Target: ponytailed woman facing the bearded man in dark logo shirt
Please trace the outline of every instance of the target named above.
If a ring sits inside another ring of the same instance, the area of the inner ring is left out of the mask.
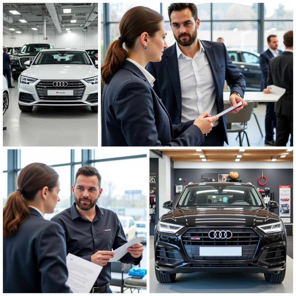
[[[59,201],[57,173],[32,163],[20,171],[17,186],[3,208],[3,292],[71,293],[64,231],[43,217]]]

